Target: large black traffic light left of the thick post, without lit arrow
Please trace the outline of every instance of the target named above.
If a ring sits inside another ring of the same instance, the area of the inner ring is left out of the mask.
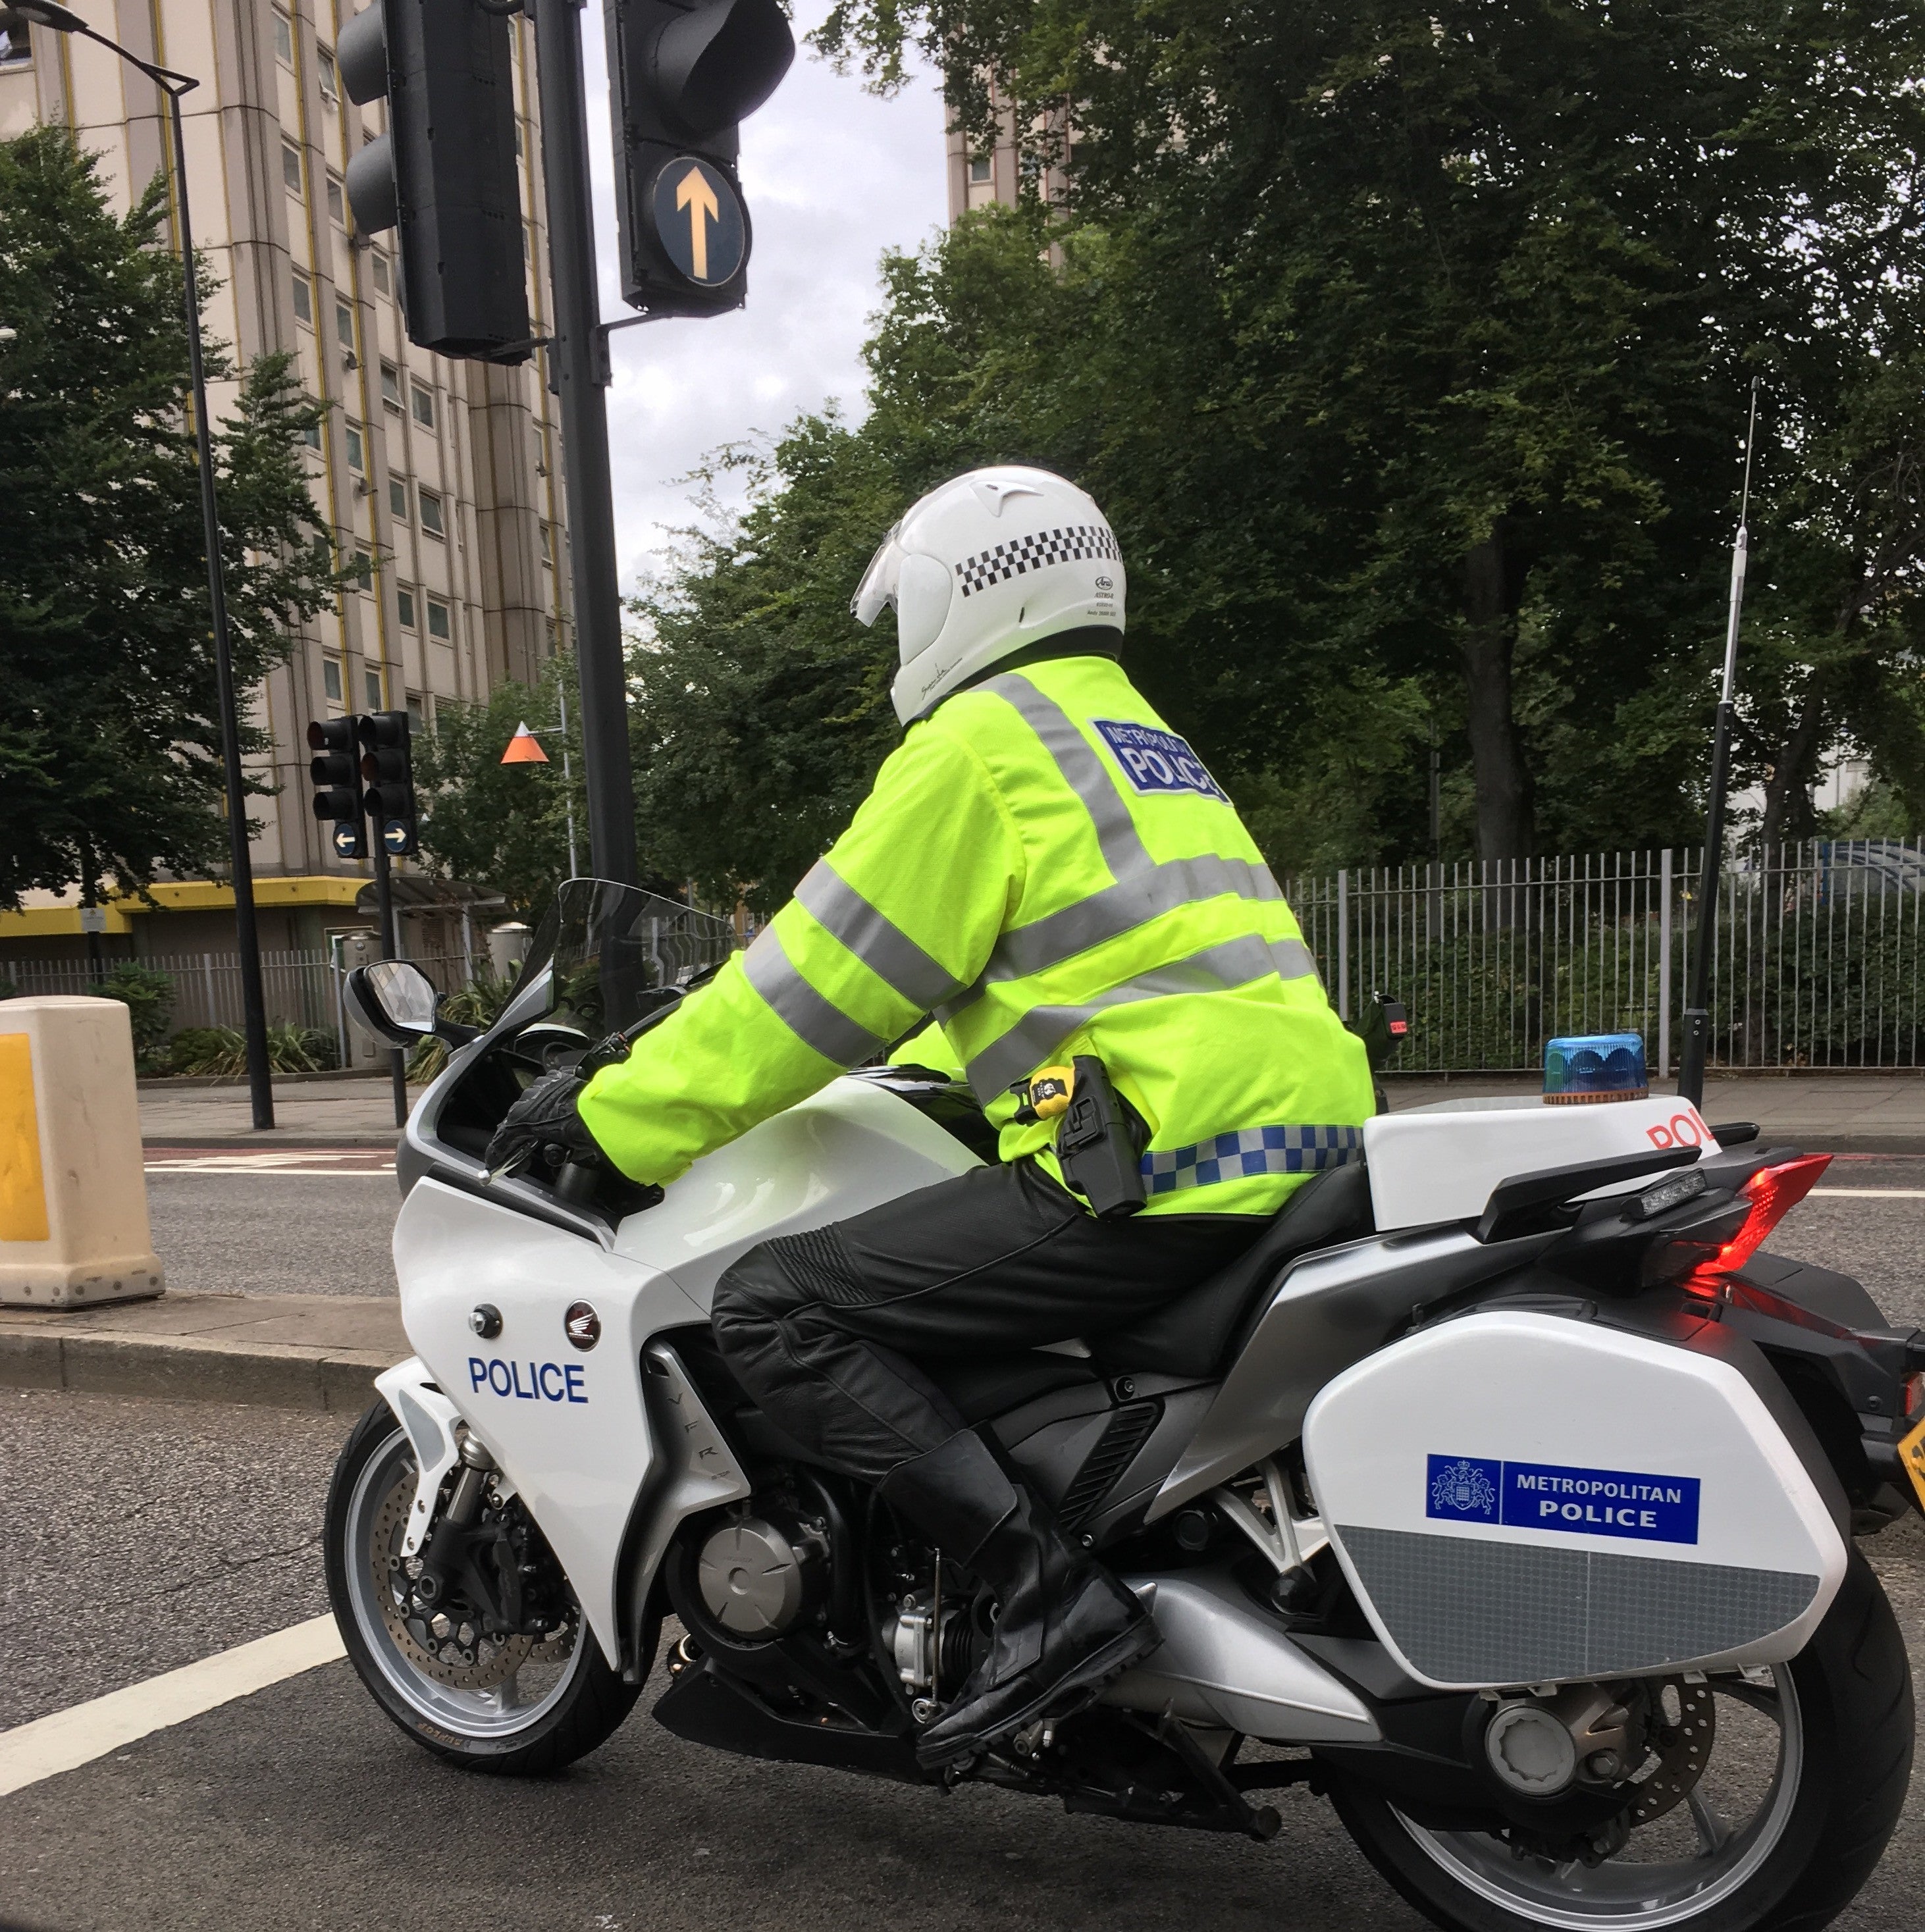
[[[363,234],[400,230],[408,340],[526,361],[506,15],[479,0],[375,0],[340,29],[334,60],[350,100],[388,102],[388,131],[348,162],[348,205]]]

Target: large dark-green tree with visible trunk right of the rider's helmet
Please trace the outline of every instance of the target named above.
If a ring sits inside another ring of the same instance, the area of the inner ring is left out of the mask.
[[[995,79],[1073,201],[1032,332],[970,350],[951,253],[879,340],[945,330],[959,413],[1111,508],[1216,755],[1274,744],[1287,794],[1281,713],[1428,713],[1463,734],[1486,858],[1683,833],[1753,373],[1761,564],[1786,545],[1745,775],[1796,790],[1890,711],[1911,444],[1865,410],[1892,373],[1917,392],[1925,14],[841,0],[818,44],[889,85],[912,37],[978,137]],[[1374,833],[1409,850],[1392,792]]]

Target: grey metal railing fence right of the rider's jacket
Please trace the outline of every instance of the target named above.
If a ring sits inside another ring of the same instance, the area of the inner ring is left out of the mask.
[[[1399,1072],[1531,1072],[1556,1034],[1676,1066],[1697,925],[1689,848],[1361,867],[1283,881],[1337,1010],[1409,1009]],[[1925,1066],[1925,844],[1811,840],[1720,881],[1710,1065]]]

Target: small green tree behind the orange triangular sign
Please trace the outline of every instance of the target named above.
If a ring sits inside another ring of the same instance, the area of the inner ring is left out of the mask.
[[[437,871],[504,893],[518,918],[539,920],[568,877],[568,800],[562,740],[553,724],[560,694],[574,692],[574,663],[553,657],[533,690],[499,684],[485,703],[435,707],[435,730],[414,740],[416,792],[421,800],[421,850]],[[582,798],[578,707],[568,705],[568,750],[576,773],[578,858],[588,864]],[[518,724],[541,738],[545,765],[503,765]]]

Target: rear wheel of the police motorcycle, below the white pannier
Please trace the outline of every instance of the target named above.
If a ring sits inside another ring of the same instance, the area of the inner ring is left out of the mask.
[[[1668,1685],[1676,1729],[1710,1745],[1683,1797],[1635,1787],[1610,1857],[1552,1859],[1484,1832],[1436,1832],[1349,1774],[1332,1797],[1365,1857],[1448,1932],[1817,1932],[1884,1851],[1911,1777],[1911,1671],[1853,1549],[1788,1663]],[[1687,1716],[1689,1712],[1689,1716]],[[1649,1820],[1649,1822],[1647,1822]]]

